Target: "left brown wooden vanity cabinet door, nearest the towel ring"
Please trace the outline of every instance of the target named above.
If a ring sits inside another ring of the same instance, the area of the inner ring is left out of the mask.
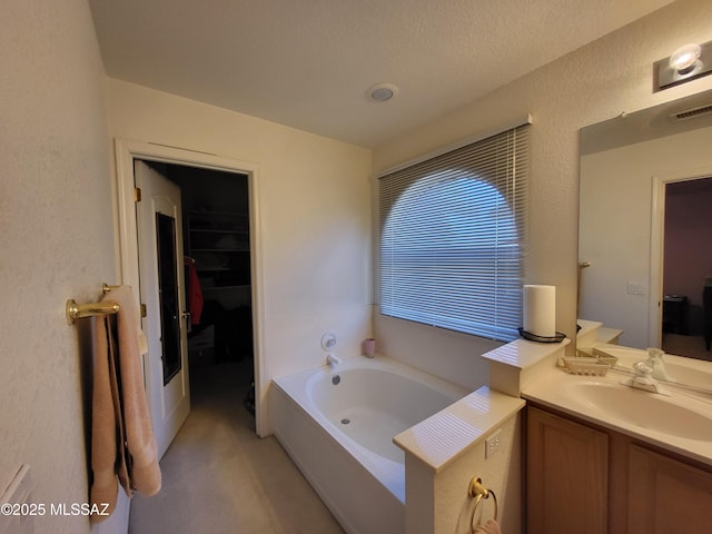
[[[530,406],[527,439],[527,533],[605,534],[607,435]]]

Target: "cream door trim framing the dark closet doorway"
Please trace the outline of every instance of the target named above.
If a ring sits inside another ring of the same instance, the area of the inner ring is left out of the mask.
[[[130,285],[136,301],[139,299],[138,225],[136,220],[134,159],[198,167],[210,170],[237,172],[248,176],[249,191],[249,245],[250,291],[253,309],[253,337],[255,360],[255,429],[258,436],[267,435],[267,417],[264,403],[263,377],[266,373],[264,350],[264,283],[259,217],[258,166],[222,156],[196,150],[169,147],[152,142],[115,139],[116,180],[118,201],[119,271],[121,283]]]

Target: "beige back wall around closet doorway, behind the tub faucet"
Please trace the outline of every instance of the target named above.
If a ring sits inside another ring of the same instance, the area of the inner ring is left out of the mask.
[[[370,333],[369,150],[115,79],[107,106],[111,138],[257,167],[265,406],[271,377],[325,363],[324,333],[337,355],[359,354]]]

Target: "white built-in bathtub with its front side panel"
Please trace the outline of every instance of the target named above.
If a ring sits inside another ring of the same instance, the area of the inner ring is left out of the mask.
[[[393,437],[467,392],[379,356],[274,383],[275,434],[342,526],[404,532],[404,454]]]

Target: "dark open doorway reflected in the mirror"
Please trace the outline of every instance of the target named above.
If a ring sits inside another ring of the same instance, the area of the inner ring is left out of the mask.
[[[665,184],[662,348],[712,359],[712,177]]]

